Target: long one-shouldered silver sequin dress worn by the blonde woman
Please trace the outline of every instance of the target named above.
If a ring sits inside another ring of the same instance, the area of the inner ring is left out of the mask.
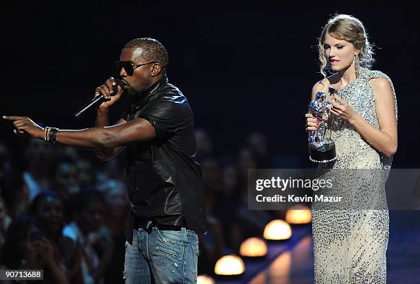
[[[375,97],[369,84],[373,78],[386,78],[390,83],[397,116],[393,83],[380,71],[362,69],[358,78],[342,88],[338,96],[379,129]],[[312,206],[315,283],[386,283],[389,215],[385,182],[392,157],[375,150],[348,121],[331,115],[327,122],[326,136],[330,135],[336,143],[337,160],[320,164],[319,168],[345,173],[338,184],[346,197],[351,196],[351,205],[346,210]],[[360,178],[360,172],[367,177]]]

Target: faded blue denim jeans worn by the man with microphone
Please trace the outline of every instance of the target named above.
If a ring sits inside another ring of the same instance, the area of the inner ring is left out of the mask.
[[[197,283],[198,237],[192,230],[133,230],[126,241],[124,280],[127,284]]]

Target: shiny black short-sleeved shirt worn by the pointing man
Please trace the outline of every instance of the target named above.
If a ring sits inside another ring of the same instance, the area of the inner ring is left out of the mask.
[[[204,233],[204,189],[196,161],[194,116],[187,98],[165,77],[133,99],[121,114],[126,121],[139,117],[150,121],[157,138],[126,145],[133,213],[159,224],[186,225]]]

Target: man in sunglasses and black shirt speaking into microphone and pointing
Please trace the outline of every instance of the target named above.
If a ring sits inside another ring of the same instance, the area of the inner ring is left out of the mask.
[[[84,130],[40,128],[28,117],[14,132],[95,149],[106,161],[126,147],[128,197],[132,214],[126,241],[126,283],[194,283],[198,237],[205,231],[204,193],[196,162],[194,117],[185,96],[169,84],[165,47],[152,38],[130,40],[117,61],[124,89],[110,78],[95,95],[107,99],[97,109],[96,127]],[[108,111],[122,93],[132,97],[115,126]]]

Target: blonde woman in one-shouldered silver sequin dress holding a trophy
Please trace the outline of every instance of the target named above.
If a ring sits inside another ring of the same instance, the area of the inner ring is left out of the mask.
[[[325,76],[329,65],[334,74],[314,85],[312,99],[329,87],[338,91],[328,96],[331,115],[323,118],[337,159],[320,168],[341,173],[336,188],[351,196],[351,207],[312,208],[315,283],[386,283],[385,182],[397,151],[397,102],[390,78],[369,70],[372,54],[358,19],[338,14],[325,25],[319,39],[320,70]],[[307,130],[316,130],[319,121],[309,113],[305,117]]]

